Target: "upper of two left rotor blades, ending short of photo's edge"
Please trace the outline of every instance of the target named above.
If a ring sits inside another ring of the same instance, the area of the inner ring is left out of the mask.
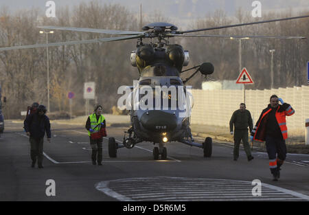
[[[104,29],[95,29],[95,28],[84,28],[84,27],[38,26],[38,28],[49,29],[49,30],[66,30],[66,31],[73,31],[73,32],[100,33],[100,34],[118,34],[118,35],[144,34],[144,32],[130,32],[130,31],[120,31],[120,30],[104,30]]]

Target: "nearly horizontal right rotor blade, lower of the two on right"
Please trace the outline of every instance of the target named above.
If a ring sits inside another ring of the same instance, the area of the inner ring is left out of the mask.
[[[183,36],[183,37],[222,37],[222,38],[278,38],[278,39],[304,39],[304,36],[262,36],[262,35],[194,35],[194,34],[166,34],[166,36]]]

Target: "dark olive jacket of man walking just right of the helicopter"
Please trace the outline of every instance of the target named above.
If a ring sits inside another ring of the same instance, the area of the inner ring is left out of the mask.
[[[252,131],[253,122],[250,111],[244,109],[244,111],[240,111],[239,109],[234,111],[231,116],[231,120],[229,120],[229,131],[233,131],[233,125],[235,125],[235,130],[247,130],[249,127],[249,131]]]

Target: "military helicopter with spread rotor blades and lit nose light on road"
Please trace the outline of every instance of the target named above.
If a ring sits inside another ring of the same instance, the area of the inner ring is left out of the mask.
[[[235,35],[197,35],[187,34],[193,32],[218,30],[228,27],[238,27],[244,25],[255,25],[260,23],[271,23],[275,21],[286,21],[292,19],[308,18],[307,16],[296,16],[284,19],[272,19],[268,21],[257,21],[252,23],[240,23],[236,25],[225,25],[218,27],[208,27],[197,30],[178,31],[178,28],[171,23],[150,23],[142,27],[144,32],[122,31],[122,30],[102,30],[81,27],[57,27],[57,26],[41,26],[41,29],[48,30],[69,30],[76,32],[92,32],[103,34],[120,35],[112,38],[95,38],[93,40],[84,41],[68,41],[62,43],[49,43],[37,45],[23,45],[15,47],[1,47],[0,51],[12,49],[26,49],[37,47],[53,47],[59,45],[74,45],[82,43],[99,43],[110,41],[122,41],[129,39],[137,39],[137,49],[130,54],[130,61],[133,67],[139,70],[139,80],[135,86],[128,87],[130,93],[127,97],[130,107],[144,103],[146,109],[130,110],[130,128],[124,134],[122,144],[117,144],[114,137],[108,139],[108,155],[117,157],[119,148],[133,148],[135,144],[140,142],[152,142],[159,144],[159,148],[153,149],[154,159],[167,158],[167,150],[165,143],[181,142],[190,146],[203,148],[204,157],[211,157],[212,139],[206,137],[205,142],[200,144],[194,142],[190,130],[190,109],[192,108],[192,100],[188,100],[188,92],[185,83],[190,80],[196,73],[201,72],[207,76],[214,72],[214,66],[211,63],[202,63],[196,67],[182,70],[184,66],[189,64],[189,52],[184,50],[181,45],[170,44],[169,38],[175,36],[185,37],[221,37],[221,38],[284,38],[284,39],[303,39],[303,36],[235,36]],[[143,39],[150,38],[151,43],[144,44]],[[156,38],[154,43],[152,39]],[[183,80],[180,74],[185,71],[196,69],[189,78]],[[144,87],[152,89],[147,91],[144,96],[140,96],[138,91],[142,91]],[[165,87],[167,91],[158,88]],[[172,93],[174,89],[174,93]],[[176,93],[175,93],[176,92]],[[175,96],[172,96],[175,94]],[[150,96],[152,95],[152,97]],[[155,99],[153,99],[155,95]],[[159,95],[159,100],[157,100]],[[148,97],[150,96],[150,97]],[[157,97],[156,97],[157,96]],[[146,98],[146,99],[145,99]],[[153,99],[153,100],[152,100]],[[165,106],[162,105],[165,100]],[[183,102],[179,102],[182,100]],[[166,102],[167,101],[167,102]],[[174,103],[173,103],[174,102]],[[175,103],[176,102],[176,103]],[[151,103],[151,104],[150,104]],[[174,106],[172,105],[174,104]],[[189,114],[187,114],[189,112]]]

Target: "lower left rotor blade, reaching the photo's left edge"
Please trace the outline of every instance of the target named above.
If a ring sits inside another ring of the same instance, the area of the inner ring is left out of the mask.
[[[85,40],[85,41],[68,41],[68,42],[60,42],[60,43],[48,43],[48,44],[34,44],[34,45],[20,45],[20,46],[12,46],[12,47],[1,47],[1,51],[8,51],[14,49],[32,49],[32,48],[40,48],[40,47],[54,47],[60,45],[76,45],[76,44],[86,44],[86,43],[104,43],[111,41],[123,41],[133,38],[141,38],[144,34],[134,35],[134,36],[119,36],[119,37],[111,37],[111,38],[97,38],[93,40]]]

